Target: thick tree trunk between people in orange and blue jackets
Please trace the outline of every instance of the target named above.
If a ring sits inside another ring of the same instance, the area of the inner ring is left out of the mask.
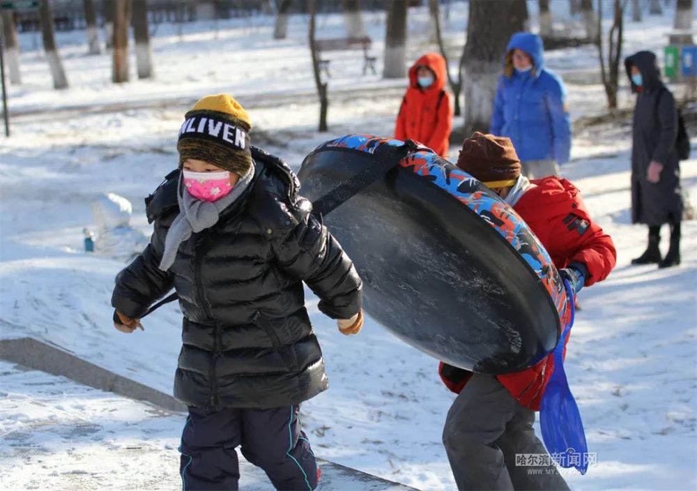
[[[502,70],[501,55],[511,35],[525,25],[523,2],[470,0],[464,56],[466,135],[489,130],[496,79]]]

